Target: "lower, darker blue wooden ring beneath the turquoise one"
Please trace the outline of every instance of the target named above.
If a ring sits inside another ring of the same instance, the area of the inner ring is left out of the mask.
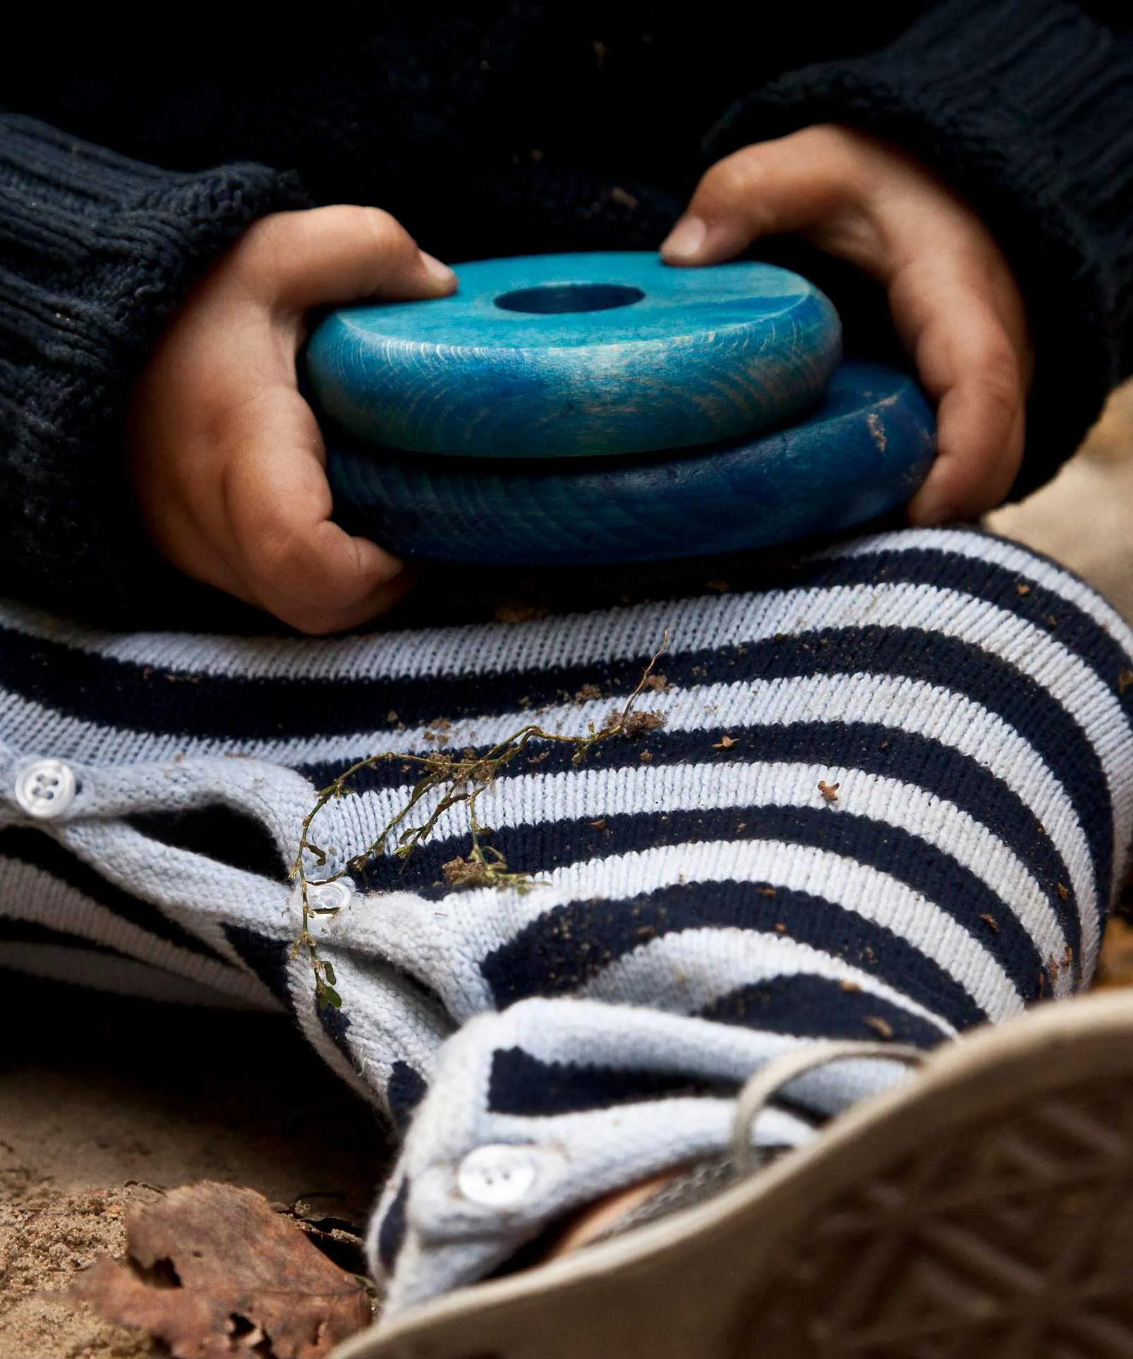
[[[928,476],[933,413],[911,378],[845,363],[807,420],[676,454],[477,463],[328,439],[340,520],[399,556],[492,564],[740,552],[865,523]]]

